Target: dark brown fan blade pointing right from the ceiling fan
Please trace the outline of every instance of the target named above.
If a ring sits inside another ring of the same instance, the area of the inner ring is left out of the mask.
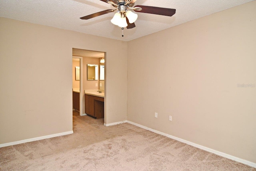
[[[141,11],[136,11],[135,12],[143,12],[143,13],[148,13],[148,14],[158,14],[162,16],[173,16],[176,12],[175,9],[172,8],[160,8],[160,7],[154,7],[154,6],[143,6],[143,5],[136,5],[134,8],[140,7],[142,8]]]

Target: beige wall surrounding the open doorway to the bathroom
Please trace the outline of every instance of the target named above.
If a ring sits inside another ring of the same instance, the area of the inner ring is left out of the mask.
[[[72,48],[106,52],[105,123],[127,119],[127,42],[6,18],[0,25],[0,144],[72,131]]]

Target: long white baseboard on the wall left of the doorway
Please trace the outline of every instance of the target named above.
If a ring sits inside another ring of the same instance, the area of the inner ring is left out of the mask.
[[[42,137],[24,139],[24,140],[20,140],[20,141],[14,141],[14,142],[10,142],[10,143],[0,144],[0,147],[7,147],[7,146],[10,146],[10,145],[28,143],[28,142],[31,142],[31,141],[38,141],[38,140],[41,140],[41,139],[58,137],[58,136],[62,136],[62,135],[68,135],[68,134],[71,134],[71,133],[74,133],[74,132],[73,131],[68,131],[68,132],[56,133],[56,134],[52,134],[52,135],[46,135],[46,136],[42,136]]]

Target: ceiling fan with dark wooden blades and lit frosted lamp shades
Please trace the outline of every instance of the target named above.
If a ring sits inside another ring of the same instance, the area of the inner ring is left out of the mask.
[[[143,5],[134,6],[134,3],[136,2],[136,0],[101,0],[101,1],[111,4],[116,9],[114,10],[109,9],[101,12],[96,12],[94,14],[81,17],[80,19],[88,20],[90,18],[94,18],[97,16],[101,16],[103,14],[108,14],[110,12],[114,12],[118,10],[114,15],[114,17],[112,18],[111,22],[121,27],[122,30],[124,30],[124,27],[126,27],[127,29],[134,28],[135,27],[134,22],[138,18],[138,15],[133,13],[130,10],[134,10],[135,12],[148,13],[148,14],[158,14],[162,16],[173,16],[176,12],[175,9],[171,9],[171,8],[159,8],[154,6],[143,6]]]

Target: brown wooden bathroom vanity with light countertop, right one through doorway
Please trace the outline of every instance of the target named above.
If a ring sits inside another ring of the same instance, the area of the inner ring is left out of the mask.
[[[104,93],[84,93],[85,113],[95,119],[104,118]]]

